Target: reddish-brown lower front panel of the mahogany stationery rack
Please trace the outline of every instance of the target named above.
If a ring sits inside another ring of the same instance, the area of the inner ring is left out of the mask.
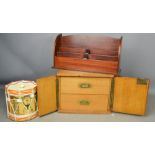
[[[88,71],[94,73],[118,74],[117,61],[83,60],[70,57],[55,56],[55,68],[77,71]]]

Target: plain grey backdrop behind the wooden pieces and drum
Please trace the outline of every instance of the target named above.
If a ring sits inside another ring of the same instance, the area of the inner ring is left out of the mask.
[[[50,75],[57,34],[0,34],[0,83]],[[155,92],[155,34],[100,34],[123,36],[121,75],[151,80]]]

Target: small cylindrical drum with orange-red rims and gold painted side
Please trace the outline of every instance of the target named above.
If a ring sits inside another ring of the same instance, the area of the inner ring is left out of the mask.
[[[8,118],[26,121],[38,116],[34,81],[16,81],[5,86]]]

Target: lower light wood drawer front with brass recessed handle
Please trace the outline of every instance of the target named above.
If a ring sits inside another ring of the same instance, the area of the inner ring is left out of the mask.
[[[59,111],[73,113],[109,112],[109,95],[69,95],[61,94]]]

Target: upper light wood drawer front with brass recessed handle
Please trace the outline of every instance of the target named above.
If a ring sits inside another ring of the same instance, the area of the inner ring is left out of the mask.
[[[60,93],[110,94],[111,78],[61,77]]]

